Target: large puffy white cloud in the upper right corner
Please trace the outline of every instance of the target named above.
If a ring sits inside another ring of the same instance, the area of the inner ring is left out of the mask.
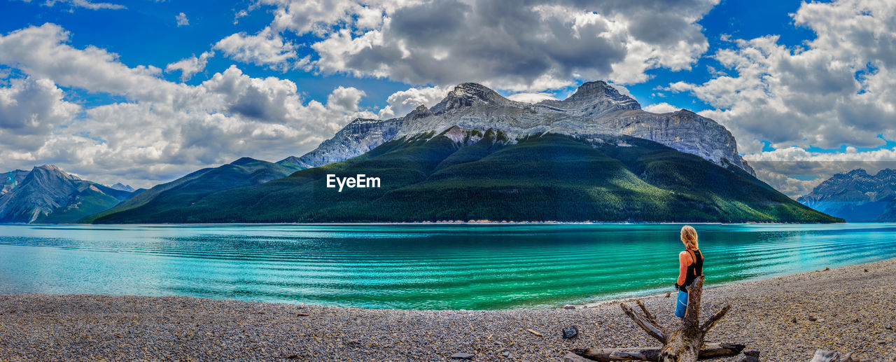
[[[759,141],[833,149],[896,139],[896,3],[804,3],[793,19],[815,39],[795,47],[777,36],[737,39],[713,56],[733,75],[668,90],[708,103],[714,109],[702,116],[726,125],[745,151],[761,150]]]

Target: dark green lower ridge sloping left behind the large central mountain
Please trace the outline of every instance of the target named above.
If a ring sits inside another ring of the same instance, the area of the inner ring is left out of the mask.
[[[162,220],[166,211],[188,207],[203,197],[235,187],[258,185],[289,176],[299,167],[244,157],[218,168],[202,168],[166,184],[155,185],[115,207],[90,215],[82,222],[137,222]],[[138,190],[139,191],[139,190]]]

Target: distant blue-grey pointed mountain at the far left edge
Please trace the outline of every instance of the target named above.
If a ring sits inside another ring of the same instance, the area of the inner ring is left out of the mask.
[[[129,194],[45,165],[6,174],[0,222],[75,222],[106,210]]]

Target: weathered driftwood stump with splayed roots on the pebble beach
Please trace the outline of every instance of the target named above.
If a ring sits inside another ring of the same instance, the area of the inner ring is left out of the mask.
[[[576,349],[576,355],[596,361],[642,360],[660,362],[696,362],[699,358],[734,356],[744,349],[739,344],[703,345],[707,332],[719,322],[731,306],[725,306],[719,313],[700,323],[700,297],[703,292],[703,277],[699,277],[687,289],[687,310],[681,325],[676,329],[663,326],[650,314],[641,301],[635,301],[640,311],[625,303],[620,304],[625,315],[632,318],[644,332],[663,344],[659,349]]]

